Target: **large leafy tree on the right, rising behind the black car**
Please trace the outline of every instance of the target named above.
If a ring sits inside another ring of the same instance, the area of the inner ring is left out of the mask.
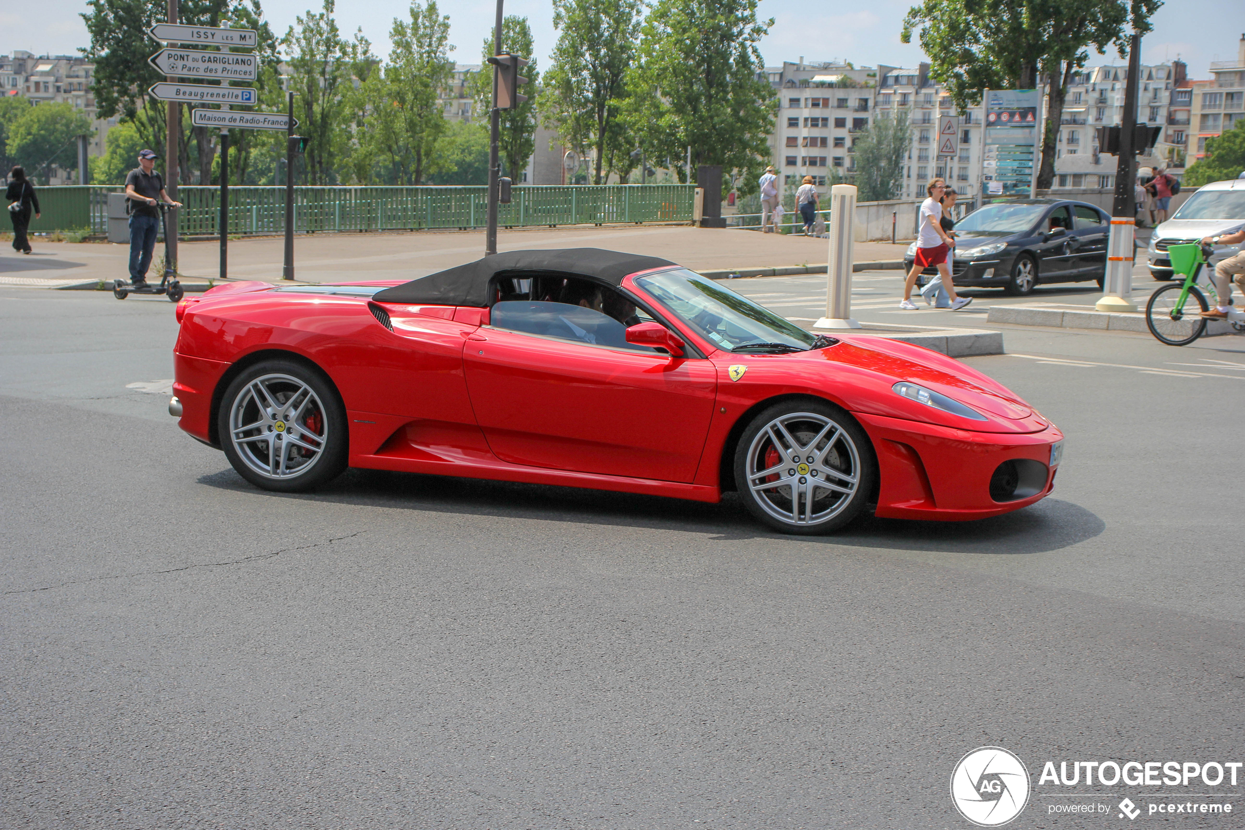
[[[924,0],[909,9],[900,40],[920,29],[930,75],[964,112],[985,90],[1031,90],[1047,83],[1047,119],[1037,187],[1055,179],[1063,101],[1074,70],[1111,44],[1127,49],[1129,31],[1150,31],[1163,0]]]

